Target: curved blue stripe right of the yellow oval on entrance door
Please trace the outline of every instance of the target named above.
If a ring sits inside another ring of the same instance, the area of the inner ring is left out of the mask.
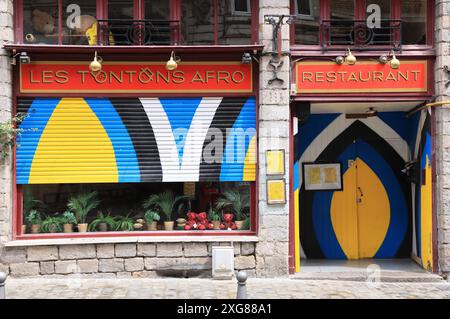
[[[358,157],[377,175],[389,198],[390,222],[383,243],[375,258],[392,258],[402,245],[408,228],[408,206],[401,191],[401,185],[394,171],[372,146],[362,140],[357,141]]]

